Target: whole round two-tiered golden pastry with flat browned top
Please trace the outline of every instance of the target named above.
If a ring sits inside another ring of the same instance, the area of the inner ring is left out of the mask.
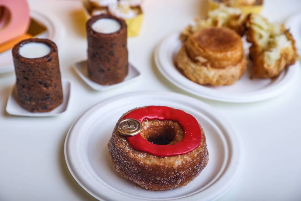
[[[243,43],[226,27],[206,27],[189,36],[176,56],[178,69],[201,85],[230,85],[246,69]]]

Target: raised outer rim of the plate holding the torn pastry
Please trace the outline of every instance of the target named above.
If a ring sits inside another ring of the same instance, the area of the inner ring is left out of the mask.
[[[282,80],[275,85],[269,87],[269,88],[264,88],[260,89],[257,91],[251,91],[251,92],[242,92],[239,93],[240,95],[237,96],[237,94],[231,94],[231,93],[225,93],[225,92],[220,92],[220,91],[214,91],[214,89],[207,88],[206,86],[200,85],[200,89],[205,89],[208,91],[211,91],[211,94],[200,92],[200,91],[195,91],[190,89],[187,86],[182,85],[182,83],[179,83],[174,79],[172,76],[170,76],[168,73],[166,73],[166,68],[161,64],[160,62],[160,56],[159,52],[160,49],[162,48],[164,42],[170,40],[171,38],[179,38],[180,33],[179,32],[173,32],[172,34],[169,34],[165,36],[156,46],[154,50],[154,61],[155,64],[160,71],[160,73],[163,75],[164,78],[166,78],[169,82],[177,86],[178,88],[190,93],[197,95],[198,97],[206,98],[206,99],[211,99],[215,101],[221,101],[221,102],[228,102],[228,103],[251,103],[251,102],[257,102],[257,101],[262,101],[266,99],[270,99],[273,97],[276,97],[283,92],[286,91],[287,88],[291,86],[291,84],[295,81],[297,74],[299,73],[299,67],[300,63],[297,60],[295,64],[293,64],[290,68],[286,69],[286,75]],[[173,65],[174,66],[174,65]],[[294,67],[293,67],[294,66]],[[192,82],[188,78],[186,78],[184,75],[182,75],[185,79],[187,79],[187,82]],[[195,82],[192,82],[192,84],[197,84]],[[282,84],[282,85],[281,85]],[[279,87],[279,85],[281,87]],[[278,89],[277,89],[278,87]],[[218,93],[216,93],[218,92]],[[214,95],[213,95],[214,94]],[[220,95],[222,94],[222,95]]]

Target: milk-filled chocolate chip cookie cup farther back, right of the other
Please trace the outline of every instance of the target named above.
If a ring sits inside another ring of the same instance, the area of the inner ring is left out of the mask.
[[[101,85],[122,82],[128,73],[127,25],[123,19],[101,14],[86,23],[88,75]]]

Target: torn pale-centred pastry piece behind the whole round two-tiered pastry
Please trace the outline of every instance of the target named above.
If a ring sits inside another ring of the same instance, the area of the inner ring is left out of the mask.
[[[209,11],[208,18],[196,19],[192,25],[187,26],[182,32],[182,39],[185,41],[190,34],[208,26],[228,27],[243,35],[245,19],[246,15],[239,8],[227,7],[221,4],[217,9]]]

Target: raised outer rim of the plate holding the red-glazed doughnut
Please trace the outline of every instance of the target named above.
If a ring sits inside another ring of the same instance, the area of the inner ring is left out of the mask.
[[[95,110],[95,108],[99,108],[99,107],[104,107],[106,104],[110,103],[112,101],[112,99],[119,99],[119,98],[122,98],[122,97],[125,97],[125,96],[133,96],[133,95],[139,95],[139,96],[144,96],[144,95],[152,95],[152,96],[156,96],[156,95],[159,95],[159,96],[174,96],[174,98],[185,98],[187,100],[187,98],[191,99],[191,100],[194,100],[196,103],[199,103],[202,105],[202,109],[208,113],[206,114],[206,117],[211,119],[215,119],[217,120],[217,122],[221,125],[218,125],[218,123],[214,122],[215,125],[217,127],[219,127],[219,129],[223,128],[224,130],[227,131],[227,136],[223,135],[223,137],[225,137],[225,139],[227,141],[231,141],[231,142],[227,142],[227,147],[229,149],[229,146],[231,146],[231,151],[229,152],[229,157],[228,157],[228,160],[227,160],[227,164],[225,166],[225,169],[223,169],[223,174],[225,174],[224,172],[228,172],[229,174],[229,166],[234,166],[234,167],[231,167],[232,169],[234,168],[234,171],[233,172],[233,175],[231,175],[231,178],[229,179],[228,178],[228,181],[222,185],[222,188],[220,188],[220,192],[216,193],[214,190],[214,194],[216,194],[215,196],[212,196],[211,194],[209,194],[210,196],[207,196],[207,199],[205,200],[216,200],[216,199],[219,199],[222,195],[224,195],[233,185],[234,183],[236,182],[236,180],[238,179],[239,175],[240,175],[240,172],[241,172],[241,168],[244,164],[244,145],[243,145],[243,142],[242,142],[242,139],[240,137],[240,135],[238,135],[238,132],[236,131],[235,127],[233,127],[233,124],[231,122],[229,122],[220,112],[218,112],[217,110],[215,110],[213,107],[209,106],[208,104],[196,99],[196,98],[192,98],[192,97],[189,97],[189,96],[186,96],[186,95],[183,95],[183,94],[178,94],[178,93],[174,93],[174,92],[164,92],[164,94],[162,94],[162,92],[160,91],[136,91],[136,92],[130,92],[130,93],[125,93],[125,94],[119,94],[119,95],[115,95],[113,97],[110,97],[110,98],[107,98],[107,99],[104,99],[103,101],[95,104],[94,106],[92,106],[91,108],[89,108],[87,111],[85,111],[82,115],[80,115],[76,121],[74,123],[72,123],[71,127],[69,128],[68,130],[68,133],[66,135],[66,138],[65,138],[65,143],[64,143],[64,156],[65,156],[65,162],[66,162],[66,165],[68,167],[68,170],[70,171],[71,175],[73,176],[73,178],[76,180],[76,182],[85,190],[87,191],[90,195],[92,195],[93,197],[95,197],[96,199],[99,199],[99,200],[107,200],[106,197],[108,195],[103,195],[100,197],[98,195],[96,195],[92,190],[88,189],[88,187],[86,187],[84,185],[84,182],[80,181],[80,179],[77,177],[77,172],[76,170],[73,169],[72,166],[74,166],[74,164],[72,164],[71,161],[69,161],[70,159],[68,159],[69,155],[71,155],[68,151],[68,146],[69,146],[69,141],[70,141],[70,135],[72,135],[72,130],[74,128],[74,126],[76,125],[76,123],[78,123],[80,121],[81,118],[84,118],[85,116],[87,116],[86,118],[89,117],[89,115],[93,114],[93,111]],[[211,113],[214,113],[215,115],[212,115]],[[209,116],[207,116],[209,115]],[[230,132],[231,131],[231,132]],[[233,151],[233,146],[235,146],[235,149],[237,149],[236,151]],[[235,163],[238,162],[238,163]],[[235,164],[234,164],[235,163]],[[231,171],[231,170],[230,170]],[[215,183],[217,182],[220,182],[220,178],[223,176],[223,174],[216,180],[214,181],[210,186],[208,186],[206,189],[204,189],[204,191],[208,190],[208,189],[212,189],[211,186],[213,185],[216,185]],[[93,176],[93,175],[92,175]],[[105,188],[108,188],[110,191],[113,191],[113,189],[105,186],[104,184],[101,184],[103,187]],[[114,191],[116,192],[116,191]],[[202,192],[202,191],[201,191]],[[200,194],[201,192],[197,192],[197,193],[194,193],[193,195],[190,195],[189,197],[183,197],[183,198],[176,198],[176,199],[173,199],[173,198],[170,198],[170,199],[165,199],[165,200],[191,200],[193,198],[197,198],[197,195]],[[118,193],[118,192],[116,192]],[[122,196],[125,196],[127,199],[129,198],[127,195],[123,195],[123,194],[120,194],[119,193],[119,197],[122,197]],[[135,197],[130,197],[132,200],[139,200]],[[161,199],[143,199],[145,201],[147,200],[161,200]]]

